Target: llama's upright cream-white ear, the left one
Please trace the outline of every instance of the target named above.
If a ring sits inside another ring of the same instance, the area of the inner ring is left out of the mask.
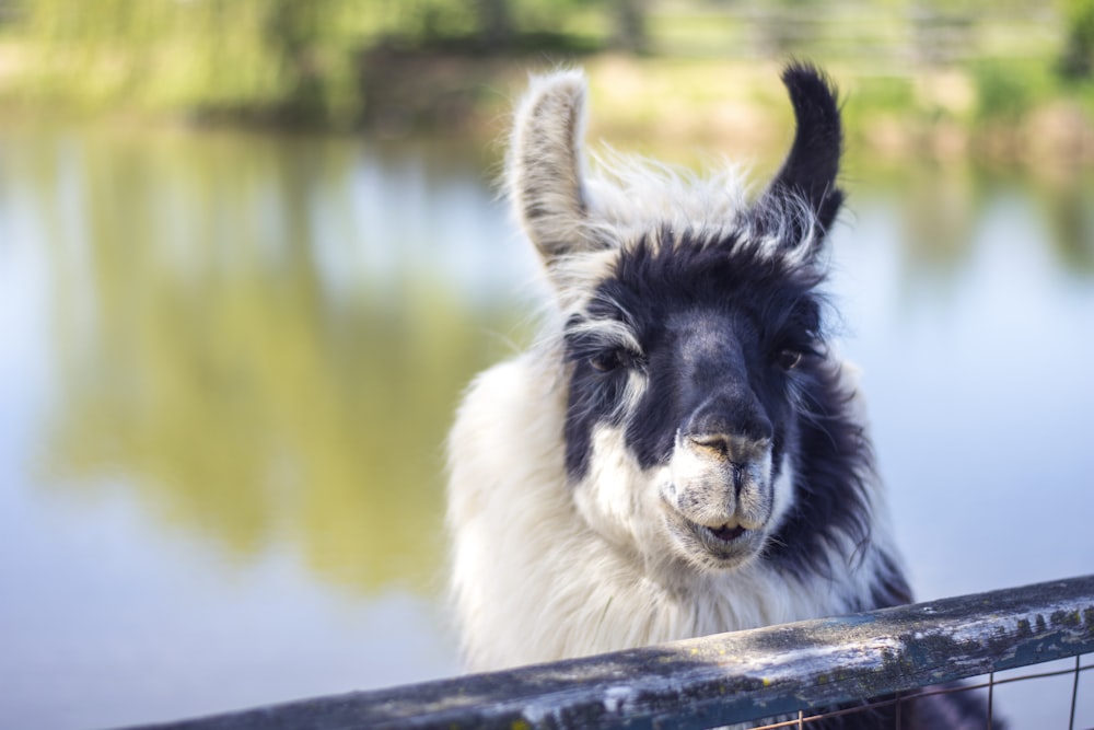
[[[581,71],[534,77],[516,112],[507,186],[521,224],[548,265],[594,247],[582,173],[584,121]]]

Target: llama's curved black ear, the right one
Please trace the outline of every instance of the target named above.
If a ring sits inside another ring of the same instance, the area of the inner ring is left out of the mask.
[[[843,148],[839,104],[835,88],[812,66],[791,63],[782,82],[798,128],[790,154],[753,209],[754,220],[765,232],[790,239],[784,246],[816,247],[843,202],[836,186]]]

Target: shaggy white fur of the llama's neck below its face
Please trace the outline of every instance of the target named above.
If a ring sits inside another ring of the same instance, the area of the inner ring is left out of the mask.
[[[800,576],[763,560],[728,572],[656,565],[605,540],[566,480],[559,390],[532,356],[502,363],[453,429],[454,599],[473,669],[831,615],[869,594],[872,546],[853,571],[833,559],[830,575]]]

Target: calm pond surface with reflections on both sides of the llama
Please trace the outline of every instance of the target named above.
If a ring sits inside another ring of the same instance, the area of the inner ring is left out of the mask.
[[[0,727],[459,671],[442,443],[538,291],[496,164],[0,132]],[[1094,173],[852,161],[848,185],[830,288],[918,596],[1091,572]],[[997,699],[1064,727],[1070,690]]]

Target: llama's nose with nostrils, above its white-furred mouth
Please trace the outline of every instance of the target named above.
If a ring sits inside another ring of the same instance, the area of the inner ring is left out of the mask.
[[[680,437],[706,456],[744,463],[770,448],[775,429],[754,398],[708,398],[688,418]]]

